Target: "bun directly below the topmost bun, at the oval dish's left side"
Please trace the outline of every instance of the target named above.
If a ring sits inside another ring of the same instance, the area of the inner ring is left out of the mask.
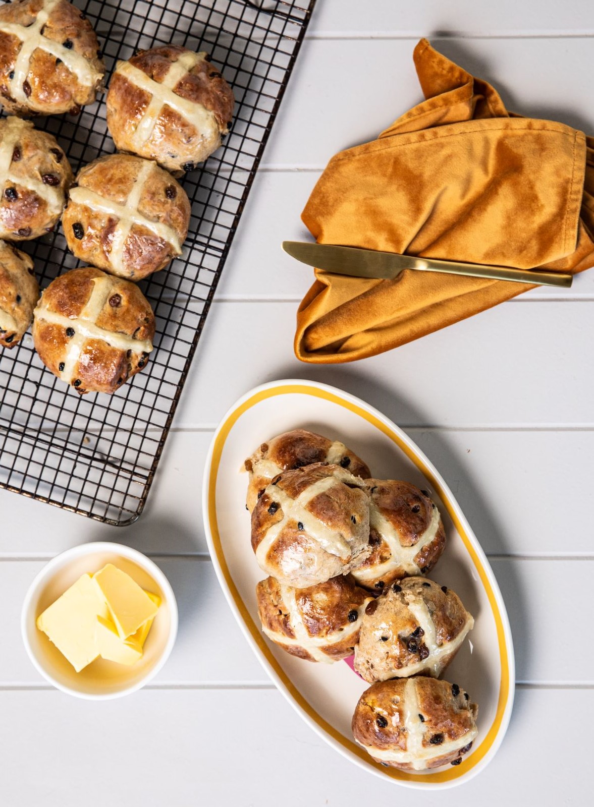
[[[268,577],[257,584],[256,599],[268,638],[299,659],[329,663],[353,654],[372,597],[347,575],[307,588]]]

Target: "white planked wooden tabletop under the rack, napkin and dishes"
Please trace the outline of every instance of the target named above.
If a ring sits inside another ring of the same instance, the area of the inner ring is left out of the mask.
[[[144,515],[115,529],[0,491],[2,807],[592,803],[594,270],[567,293],[533,291],[383,356],[312,367],[292,352],[311,274],[279,244],[303,235],[299,214],[328,158],[420,100],[420,36],[494,82],[512,109],[594,133],[594,6],[318,6]],[[207,445],[236,397],[291,376],[361,395],[404,427],[491,559],[512,623],[516,707],[496,758],[462,788],[405,791],[325,746],[270,684],[220,592],[199,504]],[[180,630],[153,684],[87,703],[37,675],[19,612],[48,558],[97,540],[156,558],[178,596]]]

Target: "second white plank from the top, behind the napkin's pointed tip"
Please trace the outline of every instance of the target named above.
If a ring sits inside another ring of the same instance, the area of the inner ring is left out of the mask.
[[[394,4],[392,14],[400,5]],[[588,37],[432,37],[431,41],[471,73],[492,82],[510,110],[594,131],[590,80],[594,52]],[[374,140],[423,99],[412,64],[415,44],[415,40],[391,39],[303,44],[303,58],[291,78],[291,91],[279,112],[264,165],[323,169],[337,151]],[[563,91],[555,91],[562,75]],[[348,90],[341,92],[339,87]]]

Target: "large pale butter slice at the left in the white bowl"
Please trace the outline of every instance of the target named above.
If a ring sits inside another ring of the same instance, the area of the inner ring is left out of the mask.
[[[47,633],[49,640],[80,672],[97,658],[95,626],[98,617],[108,616],[105,600],[93,579],[82,575],[37,617],[37,627]]]

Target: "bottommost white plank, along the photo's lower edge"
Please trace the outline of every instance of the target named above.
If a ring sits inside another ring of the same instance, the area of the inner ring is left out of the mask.
[[[274,691],[144,691],[101,704],[60,692],[3,692],[0,713],[4,807],[64,807],[82,799],[86,807],[459,807],[500,804],[504,794],[506,804],[519,807],[587,805],[592,797],[584,771],[594,700],[579,690],[520,690],[489,767],[462,788],[433,795],[359,771]],[[555,743],[546,771],[542,745],[551,721],[574,715],[571,738]],[[84,738],[81,725],[91,729]]]

